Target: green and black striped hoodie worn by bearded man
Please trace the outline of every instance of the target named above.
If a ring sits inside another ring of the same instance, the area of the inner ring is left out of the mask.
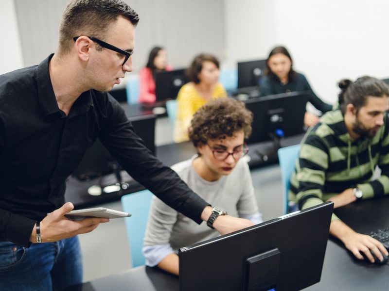
[[[373,138],[354,140],[339,109],[324,114],[302,142],[290,180],[289,200],[300,209],[318,205],[348,188],[358,187],[363,199],[389,194],[389,120]],[[376,165],[381,176],[371,181]],[[337,219],[333,215],[333,219]]]

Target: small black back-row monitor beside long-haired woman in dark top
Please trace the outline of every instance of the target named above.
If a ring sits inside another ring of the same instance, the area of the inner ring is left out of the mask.
[[[266,68],[266,60],[238,63],[238,88],[258,86]]]

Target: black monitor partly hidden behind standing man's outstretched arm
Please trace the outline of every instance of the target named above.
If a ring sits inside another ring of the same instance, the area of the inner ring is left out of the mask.
[[[136,133],[141,137],[145,146],[155,153],[155,122],[156,115],[142,115],[130,117]],[[118,162],[108,152],[105,146],[97,139],[88,148],[81,162],[72,173],[79,180],[89,180],[113,173],[118,167]]]

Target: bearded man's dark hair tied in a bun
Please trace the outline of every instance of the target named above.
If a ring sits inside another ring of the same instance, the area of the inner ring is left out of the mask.
[[[363,76],[355,82],[343,79],[338,83],[340,93],[338,95],[340,109],[344,115],[348,104],[353,104],[356,112],[366,105],[367,97],[389,97],[389,87],[384,81]]]

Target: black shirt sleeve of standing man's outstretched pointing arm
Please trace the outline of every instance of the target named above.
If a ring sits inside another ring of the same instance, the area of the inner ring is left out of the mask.
[[[167,205],[200,224],[201,213],[209,204],[147,149],[135,133],[123,108],[109,95],[105,107],[106,120],[99,136],[102,144],[132,178]]]

